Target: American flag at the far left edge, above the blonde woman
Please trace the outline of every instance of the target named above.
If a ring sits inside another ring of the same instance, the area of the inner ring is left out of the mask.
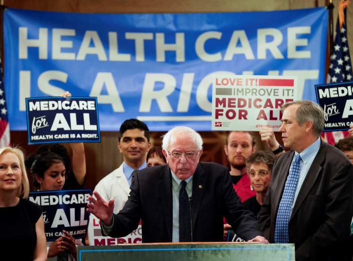
[[[1,60],[0,60],[1,68]],[[7,121],[5,91],[3,89],[2,70],[0,70],[0,148],[10,145],[10,126]]]

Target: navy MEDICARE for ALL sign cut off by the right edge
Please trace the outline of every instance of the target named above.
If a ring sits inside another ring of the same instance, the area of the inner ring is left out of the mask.
[[[349,130],[353,124],[353,82],[315,85],[318,104],[324,109],[324,131]]]

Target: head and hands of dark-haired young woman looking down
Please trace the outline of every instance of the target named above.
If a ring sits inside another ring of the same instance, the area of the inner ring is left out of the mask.
[[[66,173],[70,169],[69,163],[64,160],[64,157],[53,151],[46,149],[43,151],[42,148],[39,148],[36,153],[26,159],[26,167],[32,173],[33,184],[36,189],[39,191],[61,190],[64,187]],[[68,232],[63,231],[61,237],[48,244],[48,258],[57,257],[59,260],[75,260],[76,243],[78,243],[77,240]]]

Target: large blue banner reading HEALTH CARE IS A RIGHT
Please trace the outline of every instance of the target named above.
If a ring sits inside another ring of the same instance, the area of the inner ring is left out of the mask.
[[[5,90],[11,130],[25,98],[98,98],[101,130],[129,118],[150,130],[211,130],[217,73],[298,76],[315,101],[325,82],[328,11],[83,14],[7,8]]]

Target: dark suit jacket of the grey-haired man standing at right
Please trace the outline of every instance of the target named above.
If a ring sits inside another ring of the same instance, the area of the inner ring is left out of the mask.
[[[272,183],[259,213],[265,238],[274,242],[278,207],[294,151],[275,162]],[[289,221],[289,243],[296,260],[350,260],[353,166],[337,148],[321,141]],[[351,243],[352,244],[352,243]]]

